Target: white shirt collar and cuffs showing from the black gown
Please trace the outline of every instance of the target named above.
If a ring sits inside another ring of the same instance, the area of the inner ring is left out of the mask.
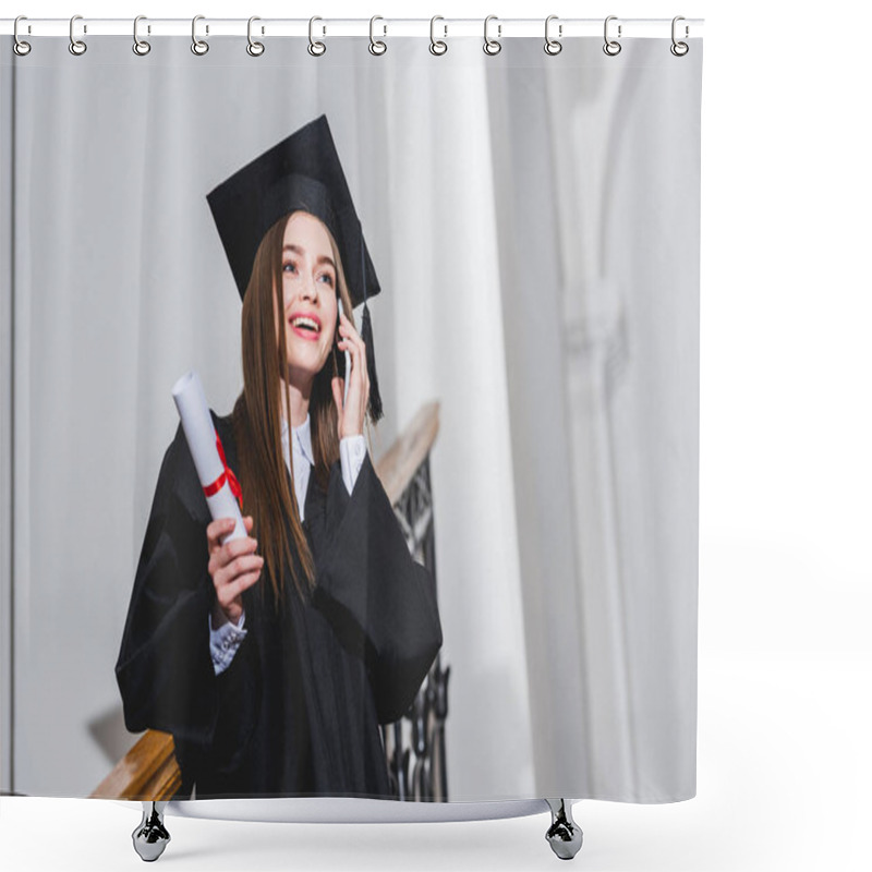
[[[293,431],[293,465],[291,465],[291,446],[288,439],[288,422],[281,421],[281,452],[284,457],[284,464],[289,471],[293,470],[293,487],[296,494],[296,507],[300,510],[300,520],[305,519],[306,488],[308,487],[308,476],[315,465],[315,457],[312,453],[312,428],[308,415],[306,420]],[[354,491],[354,483],[358,481],[363,460],[366,457],[366,440],[362,435],[347,436],[339,443],[339,463],[342,468],[342,481],[349,494]],[[233,659],[233,655],[242,644],[242,640],[247,635],[245,626],[245,613],[243,611],[239,623],[227,621],[217,630],[211,626],[211,615],[209,615],[209,651],[211,663],[215,667],[215,675],[220,675]]]

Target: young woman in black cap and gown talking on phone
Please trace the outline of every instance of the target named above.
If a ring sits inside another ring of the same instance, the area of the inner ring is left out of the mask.
[[[441,629],[366,451],[350,314],[378,284],[326,119],[209,203],[243,294],[244,388],[214,421],[249,536],[223,541],[180,427],[116,667],[126,726],[173,735],[180,796],[389,796],[378,725],[412,703]]]

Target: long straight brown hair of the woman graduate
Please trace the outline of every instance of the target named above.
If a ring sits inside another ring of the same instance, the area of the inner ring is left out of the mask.
[[[244,387],[233,407],[232,419],[245,511],[254,519],[253,535],[264,557],[277,609],[286,594],[286,569],[290,569],[294,589],[302,600],[306,600],[315,588],[315,562],[300,520],[293,475],[287,475],[281,452],[282,390],[289,417],[291,409],[287,375],[282,379],[282,373],[287,374],[288,368],[288,351],[281,268],[284,228],[293,214],[280,218],[267,230],[254,258],[242,303]],[[339,250],[330,231],[324,229],[336,264],[337,293],[353,323]],[[330,384],[336,375],[335,354],[334,350],[316,374],[308,400],[315,459],[313,473],[316,483],[325,489],[330,467],[339,459],[337,412]],[[299,561],[294,561],[294,554]],[[263,594],[264,584],[256,586]]]

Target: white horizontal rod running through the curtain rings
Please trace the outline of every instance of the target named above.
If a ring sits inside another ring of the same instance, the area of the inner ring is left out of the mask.
[[[609,34],[621,38],[669,38],[673,34],[671,19],[620,19],[609,16]],[[370,36],[371,27],[376,38],[385,36],[416,36],[429,38],[431,27],[439,39],[484,35],[484,19],[443,19],[432,23],[429,19],[388,19],[376,16],[371,25],[368,19],[330,19],[315,21],[315,33],[319,37]],[[677,23],[677,34],[681,39],[701,37],[703,19],[681,19]],[[0,20],[0,34],[12,35],[15,21]],[[257,37],[308,36],[308,19],[257,19],[253,33]],[[549,34],[553,38],[567,39],[604,34],[604,19],[558,19],[550,16]],[[19,36],[69,36],[70,19],[28,19],[19,22]],[[148,19],[138,24],[141,37],[149,36],[191,36],[190,19]],[[242,36],[249,33],[247,19],[199,17],[197,33],[208,37]],[[545,17],[542,19],[499,19],[491,16],[488,33],[492,37],[507,39],[523,36],[545,36]],[[76,36],[132,36],[133,19],[87,19],[76,17]]]

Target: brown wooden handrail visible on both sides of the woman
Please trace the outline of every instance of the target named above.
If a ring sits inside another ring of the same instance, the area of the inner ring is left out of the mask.
[[[439,432],[439,404],[421,407],[409,426],[385,452],[375,471],[396,506],[429,457]],[[172,736],[149,729],[90,795],[97,799],[171,799],[182,785]]]

